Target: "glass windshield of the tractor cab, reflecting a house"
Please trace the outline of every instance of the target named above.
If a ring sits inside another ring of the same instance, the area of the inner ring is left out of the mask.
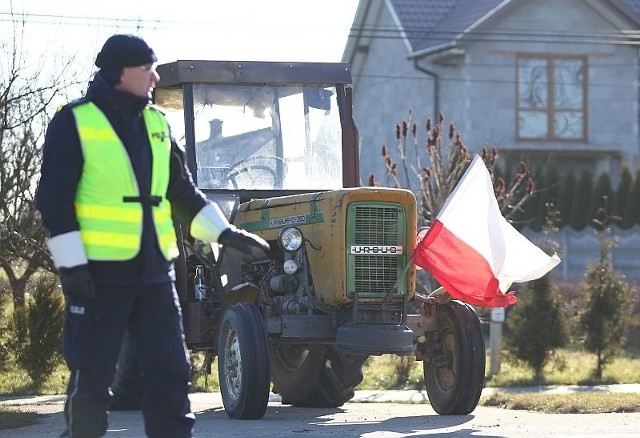
[[[193,108],[182,108],[191,100],[182,89],[158,89],[155,99],[179,142],[193,131],[201,189],[342,187],[335,87],[194,83],[192,90]],[[185,126],[189,114],[193,126]]]

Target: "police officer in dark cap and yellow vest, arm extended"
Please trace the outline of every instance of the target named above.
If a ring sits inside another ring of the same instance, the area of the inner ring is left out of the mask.
[[[160,79],[141,38],[113,35],[81,99],[51,120],[36,205],[66,296],[70,370],[63,436],[106,433],[109,386],[127,331],[139,346],[149,437],[191,437],[189,356],[174,287],[172,215],[203,241],[265,256],[193,185],[184,151],[149,104]]]

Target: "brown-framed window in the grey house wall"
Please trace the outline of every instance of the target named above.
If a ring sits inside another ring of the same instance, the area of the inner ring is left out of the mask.
[[[518,140],[586,141],[586,56],[518,55]]]

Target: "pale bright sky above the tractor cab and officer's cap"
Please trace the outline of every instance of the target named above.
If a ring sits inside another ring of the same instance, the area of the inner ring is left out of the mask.
[[[358,0],[0,0],[0,37],[25,19],[31,56],[91,67],[114,33],[147,41],[158,62],[340,61]],[[24,15],[23,15],[24,14]],[[95,68],[94,68],[95,69]]]

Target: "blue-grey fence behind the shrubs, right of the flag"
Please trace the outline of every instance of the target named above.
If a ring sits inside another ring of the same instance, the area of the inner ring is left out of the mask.
[[[555,268],[555,280],[574,283],[582,281],[589,265],[600,258],[600,243],[595,230],[585,228],[575,231],[565,227],[552,234],[536,233],[525,229],[522,233],[538,246],[552,240],[559,245],[558,255],[562,262]],[[623,230],[612,227],[606,235],[614,239],[609,262],[630,283],[640,283],[640,225]]]

